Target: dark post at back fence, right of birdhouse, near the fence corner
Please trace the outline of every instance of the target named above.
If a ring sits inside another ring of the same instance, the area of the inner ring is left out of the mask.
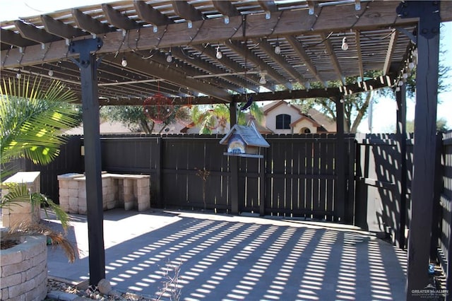
[[[344,134],[344,101],[340,97],[335,98],[336,103],[336,158],[335,158],[335,206],[336,212],[342,223],[350,223],[347,213],[347,196],[345,195],[345,134]]]

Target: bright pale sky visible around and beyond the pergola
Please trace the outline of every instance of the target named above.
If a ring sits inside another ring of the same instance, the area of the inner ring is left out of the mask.
[[[102,1],[107,3],[108,0]],[[17,20],[20,17],[36,16],[65,8],[98,4],[99,0],[0,0],[0,20]],[[446,49],[439,59],[442,64],[451,67],[446,84],[450,85],[450,91],[440,93],[437,107],[438,118],[446,119],[447,125],[452,129],[452,22],[443,23],[441,27],[441,48]],[[388,132],[396,128],[396,100],[379,98],[374,103],[373,132]],[[407,100],[407,120],[415,117],[415,101]],[[359,131],[369,132],[369,122],[366,119],[359,126]]]

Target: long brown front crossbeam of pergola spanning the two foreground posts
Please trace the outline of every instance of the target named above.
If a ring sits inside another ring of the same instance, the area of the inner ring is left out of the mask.
[[[180,2],[180,1],[175,1]],[[388,27],[397,25],[415,24],[416,18],[401,19],[394,21],[394,11],[397,3],[393,1],[381,1],[368,3],[366,18],[356,20],[355,9],[350,6],[323,7],[320,16],[311,16],[307,11],[285,11],[280,18],[270,18],[266,20],[265,13],[251,14],[246,17],[246,37],[277,37],[282,35],[315,35],[350,28],[355,23],[355,30],[364,30],[369,28]],[[448,7],[452,10],[452,1],[441,1],[441,7]],[[108,10],[107,10],[108,11]],[[451,14],[447,15],[450,16]],[[337,18],[341,16],[341,18]],[[334,20],[334,21],[331,21]],[[447,20],[444,20],[447,21]],[[276,23],[278,22],[278,26]],[[311,25],[316,23],[315,28],[311,30]],[[24,24],[25,25],[25,24]],[[18,25],[20,26],[20,25]],[[162,30],[157,33],[153,32],[153,28],[141,28],[131,30],[128,33],[128,39],[133,42],[133,49],[154,49],[155,47],[171,47],[174,45],[192,45],[202,44],[210,41],[228,41],[242,40],[242,30],[238,30],[242,26],[242,16],[230,17],[230,23],[225,24],[222,18],[213,18],[207,20],[194,21],[192,28],[187,28],[184,23],[168,24],[165,34]],[[32,26],[31,26],[32,27]],[[119,26],[121,27],[121,26]],[[32,27],[34,28],[34,27]],[[274,28],[272,32],[272,28]],[[37,29],[37,28],[35,28]],[[270,35],[271,34],[271,35]],[[33,40],[33,35],[25,35]],[[21,64],[37,64],[46,61],[56,61],[66,59],[66,57],[75,57],[76,54],[67,52],[65,41],[58,41],[59,37],[51,40],[52,45],[47,49],[41,49],[40,45],[34,45],[30,51],[21,54],[18,49],[11,49],[6,57],[6,50],[1,52],[2,68],[13,68],[18,66],[18,60],[22,57]],[[97,51],[98,54],[106,54],[117,52],[119,44],[124,40],[123,33],[114,32],[106,33],[104,46]],[[37,42],[47,42],[47,39],[40,39]],[[48,42],[51,42],[48,40]],[[44,53],[47,52],[46,55]],[[43,58],[44,57],[44,61]]]

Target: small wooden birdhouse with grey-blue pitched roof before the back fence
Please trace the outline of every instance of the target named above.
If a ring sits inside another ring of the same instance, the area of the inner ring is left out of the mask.
[[[229,133],[221,139],[220,144],[227,145],[227,153],[224,153],[225,155],[249,158],[263,158],[263,155],[259,154],[259,149],[270,146],[256,129],[254,122],[251,122],[249,126],[235,124]]]

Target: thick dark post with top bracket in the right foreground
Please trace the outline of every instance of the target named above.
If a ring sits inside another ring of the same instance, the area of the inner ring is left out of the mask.
[[[429,242],[432,235],[436,155],[436,103],[438,93],[440,1],[404,1],[397,8],[402,18],[419,18],[415,108],[414,172],[410,235],[408,237],[407,300],[421,300],[429,284]]]

